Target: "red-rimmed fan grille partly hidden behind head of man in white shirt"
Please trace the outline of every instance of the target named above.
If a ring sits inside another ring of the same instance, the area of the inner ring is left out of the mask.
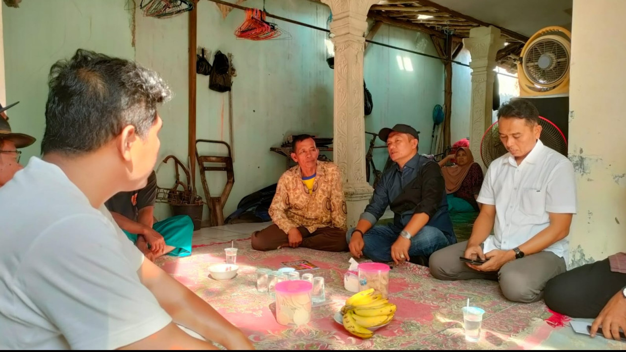
[[[541,135],[539,139],[546,147],[552,148],[567,157],[567,142],[563,132],[543,116],[539,116],[539,125],[541,125]],[[480,156],[483,163],[489,167],[493,160],[506,154],[506,148],[500,141],[500,132],[498,130],[498,122],[495,122],[483,135],[480,143]]]

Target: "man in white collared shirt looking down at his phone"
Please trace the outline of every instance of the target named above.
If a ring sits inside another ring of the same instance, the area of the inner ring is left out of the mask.
[[[487,170],[476,200],[483,206],[469,241],[431,256],[437,279],[497,279],[506,298],[535,302],[546,282],[566,270],[567,235],[576,214],[574,170],[566,157],[541,143],[538,122],[538,111],[527,100],[513,99],[498,110],[508,153]],[[486,262],[469,264],[459,257]]]

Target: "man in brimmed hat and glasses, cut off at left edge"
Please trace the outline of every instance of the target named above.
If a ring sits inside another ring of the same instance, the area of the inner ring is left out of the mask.
[[[0,187],[13,179],[13,175],[22,169],[19,165],[18,148],[28,147],[35,142],[35,138],[23,133],[11,132],[9,118],[4,111],[8,110],[18,102],[3,107],[0,105]]]

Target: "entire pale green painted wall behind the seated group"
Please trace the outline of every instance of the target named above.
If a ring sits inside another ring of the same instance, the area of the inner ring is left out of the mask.
[[[261,7],[262,1],[248,0],[245,5]],[[322,28],[329,16],[327,6],[310,1],[267,0],[265,7],[270,13]],[[165,123],[160,133],[160,160],[173,154],[187,161],[188,15],[155,19],[137,11],[133,48],[128,8],[127,0],[28,0],[19,9],[3,4],[7,100],[21,101],[9,111],[14,130],[41,140],[49,67],[77,48],[93,49],[134,58],[168,81],[175,95],[160,109]],[[225,215],[242,197],[275,183],[284,172],[285,158],[270,152],[270,147],[294,133],[332,137],[333,71],[326,63],[326,33],[277,21],[290,33],[290,40],[239,40],[233,32],[244,18],[245,13],[235,9],[224,19],[214,3],[198,4],[198,46],[212,51],[211,62],[217,50],[232,53],[237,69],[233,80],[235,186]],[[428,36],[413,31],[382,26],[375,40],[436,54]],[[413,71],[402,70],[398,56],[403,62],[410,61]],[[377,132],[395,123],[409,123],[421,130],[420,150],[428,152],[431,111],[434,105],[443,105],[441,61],[372,44],[364,66],[374,100],[366,130]],[[208,90],[208,77],[198,75],[197,79],[197,137],[228,142],[228,95]],[[219,154],[223,149],[203,148],[200,152]],[[38,154],[36,143],[24,150],[24,163]],[[386,151],[377,150],[378,168],[384,160]],[[173,185],[172,164],[158,168],[158,179],[162,187]],[[199,179],[197,176],[198,192],[203,196]],[[221,192],[224,182],[223,175],[210,175],[212,195]],[[157,206],[158,217],[168,214],[167,206]]]

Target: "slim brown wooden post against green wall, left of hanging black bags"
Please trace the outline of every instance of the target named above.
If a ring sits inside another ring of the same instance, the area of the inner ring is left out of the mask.
[[[192,185],[195,189],[195,137],[196,137],[196,48],[198,37],[198,3],[194,1],[193,10],[189,12],[189,140],[188,140],[188,160],[189,172],[192,176]],[[208,200],[207,200],[208,201]]]

